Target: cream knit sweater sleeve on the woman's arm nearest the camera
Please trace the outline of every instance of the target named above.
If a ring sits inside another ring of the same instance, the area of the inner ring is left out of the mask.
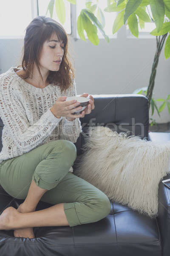
[[[8,77],[0,78],[0,117],[5,131],[8,131],[22,153],[41,145],[62,119],[55,117],[48,108],[34,125],[30,125],[25,108],[8,82]]]

